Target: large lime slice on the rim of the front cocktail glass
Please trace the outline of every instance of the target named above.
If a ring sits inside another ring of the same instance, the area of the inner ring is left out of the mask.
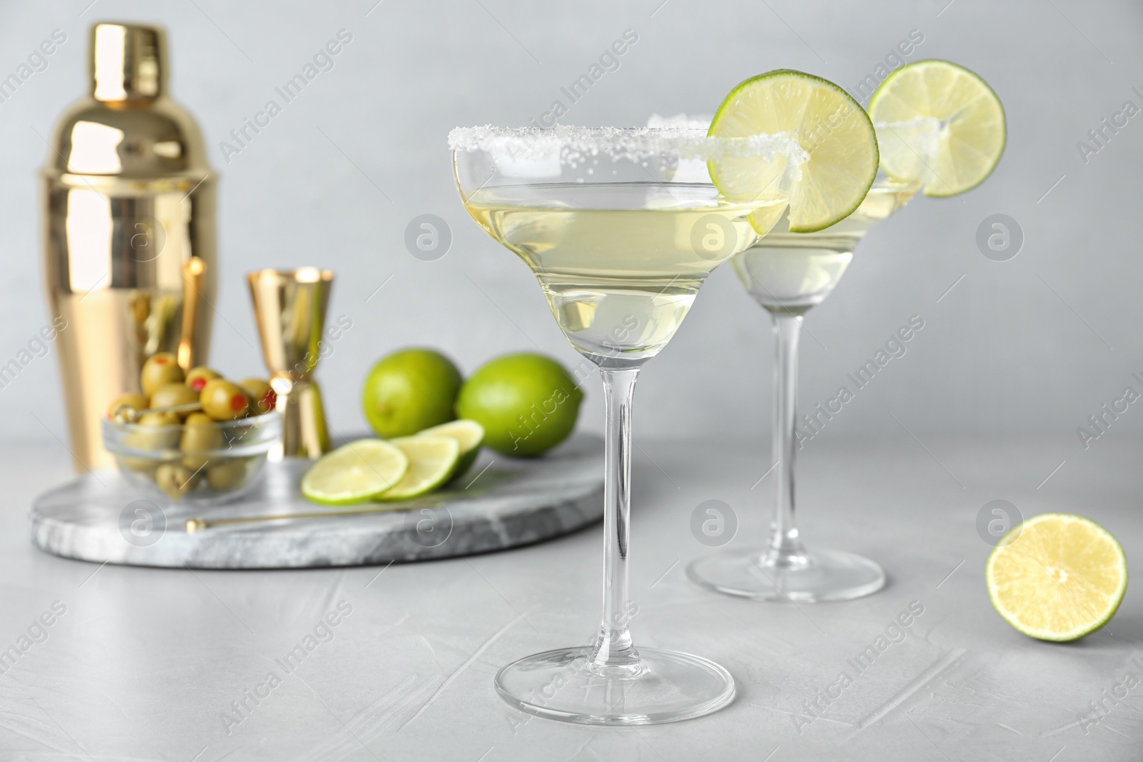
[[[861,105],[840,87],[781,69],[734,88],[719,106],[710,135],[720,138],[786,135],[797,145],[784,159],[721,157],[711,179],[732,200],[770,199],[790,189],[790,230],[812,233],[848,217],[877,177],[877,137]],[[752,219],[768,230],[777,218]],[[761,232],[761,231],[760,231]]]

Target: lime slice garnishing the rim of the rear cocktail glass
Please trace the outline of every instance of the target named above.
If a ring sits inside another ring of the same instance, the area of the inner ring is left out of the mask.
[[[881,167],[925,195],[957,195],[992,174],[1007,137],[1004,106],[992,88],[964,66],[918,61],[873,93]]]

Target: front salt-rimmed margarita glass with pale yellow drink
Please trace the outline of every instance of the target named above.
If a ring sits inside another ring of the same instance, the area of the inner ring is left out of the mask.
[[[639,369],[666,346],[706,276],[757,240],[749,215],[785,203],[732,202],[705,176],[713,152],[751,151],[750,141],[648,128],[449,135],[465,208],[533,270],[565,336],[599,367],[607,411],[599,631],[590,644],[501,669],[496,690],[518,709],[636,725],[701,716],[734,698],[734,679],[713,661],[632,643],[631,402]]]

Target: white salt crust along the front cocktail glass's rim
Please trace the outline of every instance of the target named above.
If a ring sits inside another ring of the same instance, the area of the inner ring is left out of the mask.
[[[788,133],[750,137],[711,137],[700,127],[456,127],[448,134],[456,152],[509,153],[513,158],[552,158],[576,162],[584,157],[644,161],[663,154],[718,160],[777,155],[800,158],[801,146]]]

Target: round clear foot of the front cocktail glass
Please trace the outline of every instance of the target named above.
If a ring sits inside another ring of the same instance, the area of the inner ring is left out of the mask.
[[[513,661],[496,692],[515,708],[588,725],[649,725],[700,717],[734,699],[734,677],[698,656],[638,649],[641,673],[600,674],[591,647],[561,648]]]

